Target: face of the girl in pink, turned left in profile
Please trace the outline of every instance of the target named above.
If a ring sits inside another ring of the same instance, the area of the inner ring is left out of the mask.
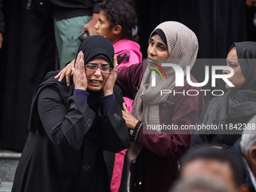
[[[109,41],[113,41],[113,28],[110,28],[110,23],[108,22],[107,17],[105,17],[105,12],[102,10],[99,11],[99,20],[95,25],[95,29],[97,35],[105,36]]]

